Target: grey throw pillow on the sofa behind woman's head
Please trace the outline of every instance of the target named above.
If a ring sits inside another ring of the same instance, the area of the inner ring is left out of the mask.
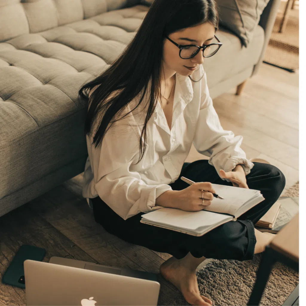
[[[269,0],[216,0],[219,7],[219,25],[234,32],[248,47],[260,15]]]

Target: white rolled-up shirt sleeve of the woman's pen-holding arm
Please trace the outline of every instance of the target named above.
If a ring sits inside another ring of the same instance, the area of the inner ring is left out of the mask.
[[[170,185],[147,185],[140,174],[130,170],[139,158],[139,128],[133,116],[114,122],[97,149],[93,147],[95,189],[99,197],[121,218],[126,220],[140,212],[150,212],[161,206],[155,200]],[[146,149],[148,145],[146,146]]]

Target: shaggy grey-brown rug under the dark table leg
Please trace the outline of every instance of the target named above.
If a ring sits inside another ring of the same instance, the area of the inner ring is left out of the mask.
[[[299,182],[283,192],[282,196],[299,196]],[[262,253],[253,260],[210,260],[196,272],[200,294],[212,300],[213,305],[246,305],[256,280]],[[299,273],[275,263],[259,305],[282,305],[299,283]],[[169,301],[166,305],[190,305],[184,297]]]

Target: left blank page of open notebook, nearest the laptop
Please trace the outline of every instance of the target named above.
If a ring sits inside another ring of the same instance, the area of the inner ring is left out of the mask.
[[[196,230],[200,226],[211,226],[220,222],[228,215],[215,214],[210,211],[183,211],[177,208],[163,207],[141,215],[145,220],[156,224],[166,224],[178,228]]]

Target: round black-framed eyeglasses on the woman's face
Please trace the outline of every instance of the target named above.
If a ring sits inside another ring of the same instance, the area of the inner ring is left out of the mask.
[[[222,43],[220,42],[220,40],[217,38],[216,35],[214,36],[215,39],[217,39],[218,43],[210,43],[209,45],[200,47],[197,45],[179,45],[165,35],[165,37],[169,39],[171,43],[174,43],[180,49],[180,57],[183,59],[193,58],[199,53],[200,49],[203,49],[203,57],[205,58],[211,57],[214,54],[216,54],[217,51],[222,46]]]

